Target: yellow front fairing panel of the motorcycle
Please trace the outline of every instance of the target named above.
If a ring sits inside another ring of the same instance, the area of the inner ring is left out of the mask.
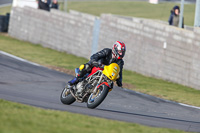
[[[115,81],[119,78],[120,67],[117,63],[111,63],[108,66],[104,66],[103,74],[110,80]]]

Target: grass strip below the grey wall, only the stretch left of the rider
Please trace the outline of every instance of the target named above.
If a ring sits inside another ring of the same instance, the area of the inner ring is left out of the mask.
[[[0,50],[45,66],[59,66],[67,69],[74,69],[88,61],[85,58],[43,48],[40,45],[32,45],[3,35],[0,35]]]

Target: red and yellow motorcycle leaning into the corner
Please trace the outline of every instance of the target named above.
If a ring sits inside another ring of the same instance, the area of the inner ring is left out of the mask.
[[[75,73],[78,73],[78,68]],[[77,102],[87,102],[87,107],[94,109],[100,105],[112,90],[113,82],[119,78],[120,67],[116,63],[105,65],[103,68],[93,67],[89,75],[77,84],[67,85],[63,89],[60,100],[70,105]]]

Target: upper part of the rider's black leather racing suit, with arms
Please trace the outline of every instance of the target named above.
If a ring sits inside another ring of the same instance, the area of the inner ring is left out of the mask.
[[[121,87],[122,86],[122,69],[123,69],[124,61],[122,59],[112,58],[112,49],[104,48],[103,50],[93,54],[90,57],[90,61],[85,64],[84,69],[87,72],[89,72],[91,71],[91,68],[93,66],[98,66],[98,64],[109,65],[111,63],[117,63],[120,67],[119,78],[116,80],[116,82],[117,82],[117,85]]]

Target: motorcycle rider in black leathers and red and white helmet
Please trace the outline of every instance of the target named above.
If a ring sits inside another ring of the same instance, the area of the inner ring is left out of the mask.
[[[123,42],[116,41],[113,44],[112,49],[104,48],[103,50],[93,54],[90,57],[90,61],[79,67],[79,72],[75,78],[68,83],[74,85],[79,82],[86,73],[90,73],[94,66],[99,67],[103,65],[109,65],[111,63],[117,63],[120,67],[119,78],[116,80],[117,85],[122,87],[122,69],[124,65],[123,57],[126,52],[126,46]]]

